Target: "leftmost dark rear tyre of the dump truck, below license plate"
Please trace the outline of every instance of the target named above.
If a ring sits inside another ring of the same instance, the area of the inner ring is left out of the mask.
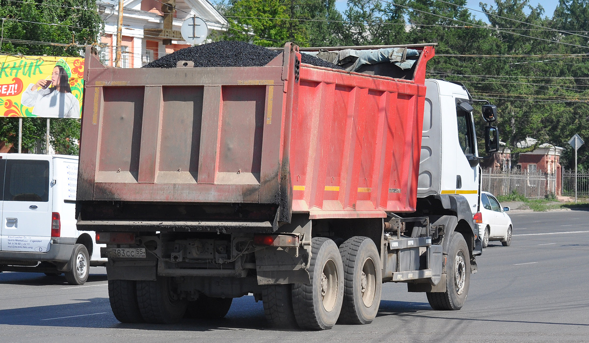
[[[133,280],[108,280],[108,300],[112,314],[122,323],[142,323],[137,304],[137,285]]]

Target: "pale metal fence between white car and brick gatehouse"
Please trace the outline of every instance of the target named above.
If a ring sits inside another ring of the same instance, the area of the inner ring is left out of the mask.
[[[556,194],[556,175],[546,174],[541,170],[530,172],[483,170],[481,177],[482,190],[496,196],[508,195],[515,191],[528,198],[540,199],[549,194]]]

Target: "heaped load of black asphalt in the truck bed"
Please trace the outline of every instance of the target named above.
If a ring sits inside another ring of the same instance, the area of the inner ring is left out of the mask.
[[[238,41],[220,41],[184,48],[150,62],[143,68],[176,68],[178,61],[193,61],[194,67],[263,67],[280,51]],[[301,54],[301,62],[318,67],[342,69],[312,55]]]

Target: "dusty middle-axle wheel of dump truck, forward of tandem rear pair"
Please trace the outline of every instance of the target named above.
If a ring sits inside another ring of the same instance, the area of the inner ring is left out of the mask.
[[[376,318],[382,292],[382,267],[376,245],[356,236],[339,247],[342,255],[344,291],[342,314],[345,324],[369,324]]]

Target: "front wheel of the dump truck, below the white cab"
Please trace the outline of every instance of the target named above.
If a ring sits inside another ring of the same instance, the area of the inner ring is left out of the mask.
[[[459,232],[452,233],[446,263],[446,292],[428,292],[429,305],[436,310],[461,309],[471,282],[468,246]]]

